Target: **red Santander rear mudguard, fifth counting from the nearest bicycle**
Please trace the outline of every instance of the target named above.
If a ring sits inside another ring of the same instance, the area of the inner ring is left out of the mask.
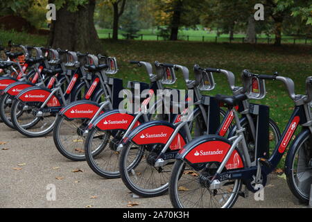
[[[44,102],[51,94],[50,89],[42,87],[28,87],[17,94],[16,98],[23,102]],[[61,103],[57,96],[52,96],[46,103],[48,107],[60,107]]]

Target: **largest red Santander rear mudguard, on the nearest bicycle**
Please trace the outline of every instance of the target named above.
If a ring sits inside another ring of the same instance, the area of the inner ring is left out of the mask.
[[[186,146],[184,146],[179,151],[176,158],[187,161],[191,165],[203,164],[207,162],[221,163],[231,146],[231,142],[224,137],[220,137],[218,135],[204,135],[193,139]],[[235,149],[231,157],[229,157],[227,164],[225,164],[225,168],[229,170],[243,167],[243,158],[241,157],[239,151]]]

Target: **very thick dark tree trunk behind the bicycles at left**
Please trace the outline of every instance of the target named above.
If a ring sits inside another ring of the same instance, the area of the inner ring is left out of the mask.
[[[51,23],[49,46],[54,49],[104,54],[94,27],[95,4],[96,0],[89,0],[84,6],[78,6],[75,12],[69,12],[66,5],[60,8],[56,12],[56,20]]]

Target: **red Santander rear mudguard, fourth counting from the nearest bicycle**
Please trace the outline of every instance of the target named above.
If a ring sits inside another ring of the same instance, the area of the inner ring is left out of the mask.
[[[80,100],[70,103],[60,110],[59,115],[67,119],[92,119],[101,105],[94,101]],[[101,112],[102,114],[103,112]]]

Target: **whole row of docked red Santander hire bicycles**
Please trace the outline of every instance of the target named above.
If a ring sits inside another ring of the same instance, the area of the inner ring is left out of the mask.
[[[168,192],[173,207],[232,207],[266,186],[301,126],[285,173],[293,194],[309,202],[312,76],[300,95],[277,73],[245,69],[237,86],[225,69],[195,65],[191,75],[182,65],[132,61],[149,83],[124,87],[113,77],[113,57],[15,44],[0,50],[1,121],[30,138],[53,133],[60,154],[86,161],[99,177],[121,178],[141,197]],[[170,87],[176,74],[183,89]],[[224,76],[231,95],[211,94],[214,75]],[[266,80],[284,83],[294,103],[283,133],[268,105],[254,102],[265,98]]]

